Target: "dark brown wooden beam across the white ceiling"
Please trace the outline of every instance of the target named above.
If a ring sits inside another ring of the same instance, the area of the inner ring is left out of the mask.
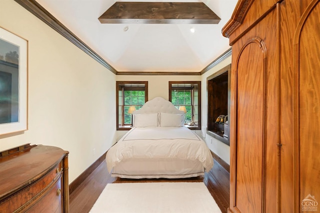
[[[221,20],[203,2],[117,1],[99,18],[100,23],[217,24]]]

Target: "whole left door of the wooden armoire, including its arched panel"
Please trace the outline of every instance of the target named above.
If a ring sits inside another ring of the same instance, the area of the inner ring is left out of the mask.
[[[277,210],[278,12],[273,7],[232,44],[230,212]]]

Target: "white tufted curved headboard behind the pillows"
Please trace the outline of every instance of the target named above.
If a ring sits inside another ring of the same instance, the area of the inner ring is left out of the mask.
[[[140,109],[133,111],[132,114],[151,114],[158,112],[184,114],[183,111],[176,109],[170,101],[161,97],[155,97],[152,100],[145,102]]]

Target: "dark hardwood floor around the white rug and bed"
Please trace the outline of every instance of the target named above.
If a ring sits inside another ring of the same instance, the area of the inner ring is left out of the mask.
[[[203,177],[187,179],[121,179],[113,178],[107,172],[103,161],[83,182],[70,194],[70,213],[88,213],[98,199],[104,187],[109,183],[128,182],[203,182],[222,213],[229,207],[229,173],[214,161],[213,168]]]

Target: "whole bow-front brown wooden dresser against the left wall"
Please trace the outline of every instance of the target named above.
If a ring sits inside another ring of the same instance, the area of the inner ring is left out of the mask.
[[[68,152],[25,144],[0,153],[0,213],[68,213]]]

